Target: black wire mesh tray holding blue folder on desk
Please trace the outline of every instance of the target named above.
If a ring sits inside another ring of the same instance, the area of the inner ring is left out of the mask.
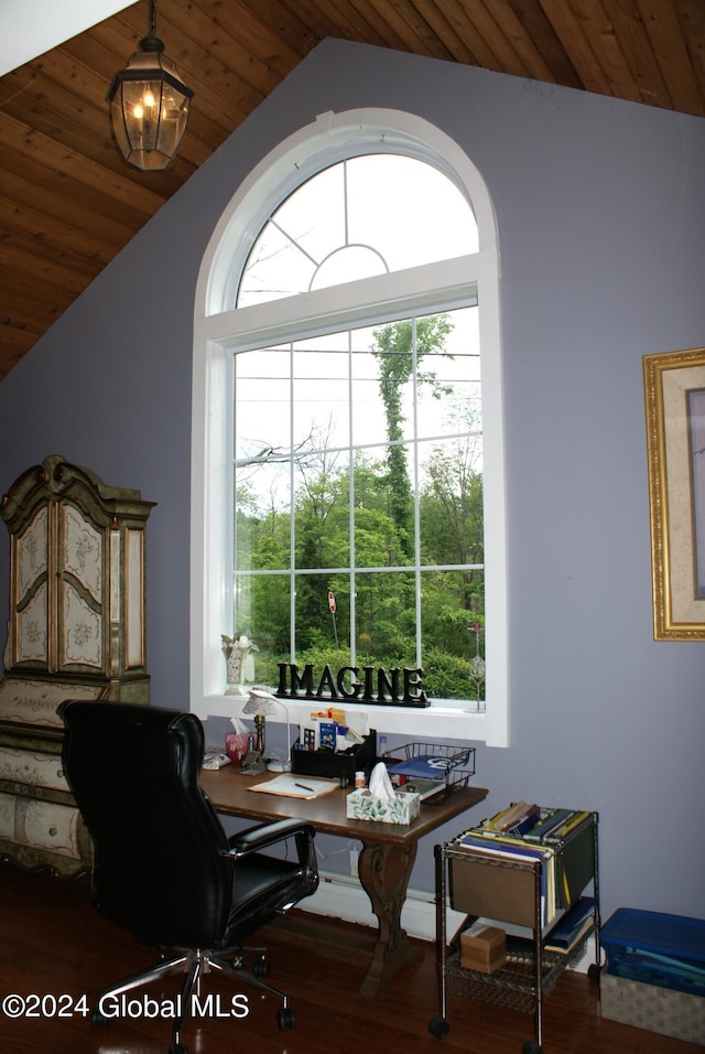
[[[395,777],[403,777],[400,784],[408,790],[413,786],[422,798],[466,787],[470,776],[475,775],[474,746],[405,743],[382,755],[382,761],[389,767],[392,782]]]

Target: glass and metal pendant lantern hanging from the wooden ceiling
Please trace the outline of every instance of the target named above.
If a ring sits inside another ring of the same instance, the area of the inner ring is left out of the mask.
[[[150,0],[149,35],[115,75],[108,93],[112,131],[128,164],[148,172],[170,164],[186,131],[193,95],[164,54],[156,36],[155,0]]]

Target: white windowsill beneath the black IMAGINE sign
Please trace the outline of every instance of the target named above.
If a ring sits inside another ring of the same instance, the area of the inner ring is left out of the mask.
[[[232,718],[242,717],[242,707],[247,696],[212,695],[202,700],[192,701],[192,710],[205,721],[209,717]],[[268,721],[285,723],[289,717],[290,724],[304,722],[312,711],[323,709],[328,700],[316,702],[312,699],[279,700],[281,711]],[[338,706],[340,703],[337,703]],[[465,706],[465,709],[464,709]],[[432,740],[473,740],[485,742],[487,739],[487,713],[467,709],[462,700],[454,700],[447,705],[432,702],[430,707],[390,707],[355,705],[348,709],[358,710],[369,718],[370,728],[378,733],[392,735],[422,736]],[[247,720],[247,718],[246,718]]]

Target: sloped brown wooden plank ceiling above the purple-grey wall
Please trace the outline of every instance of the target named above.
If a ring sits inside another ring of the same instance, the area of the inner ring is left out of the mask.
[[[139,0],[0,78],[0,377],[324,37],[705,116],[705,0],[158,0],[195,97],[148,174],[106,103],[148,29]]]

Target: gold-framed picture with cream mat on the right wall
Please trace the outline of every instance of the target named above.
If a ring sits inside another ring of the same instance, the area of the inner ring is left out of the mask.
[[[705,348],[643,356],[653,636],[705,641]]]

